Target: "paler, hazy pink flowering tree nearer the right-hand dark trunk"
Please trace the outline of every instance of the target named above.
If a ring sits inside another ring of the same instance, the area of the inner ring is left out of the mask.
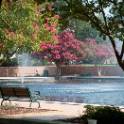
[[[84,51],[85,59],[90,63],[103,64],[106,59],[113,56],[110,45],[98,44],[95,39],[86,39],[82,42],[82,50]],[[86,62],[87,62],[86,61]]]

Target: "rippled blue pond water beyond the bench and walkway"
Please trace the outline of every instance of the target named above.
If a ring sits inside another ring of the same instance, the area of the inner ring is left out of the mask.
[[[6,85],[17,86],[18,84],[6,83]],[[83,83],[28,82],[23,85],[29,87],[31,91],[39,90],[42,100],[102,105],[124,105],[123,80]]]

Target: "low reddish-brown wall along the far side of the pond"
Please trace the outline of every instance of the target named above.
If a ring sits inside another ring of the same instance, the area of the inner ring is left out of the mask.
[[[56,66],[33,66],[33,67],[0,67],[0,77],[36,76],[44,75],[48,70],[50,76],[55,76]],[[119,66],[95,66],[95,65],[67,65],[61,66],[62,75],[80,74],[84,76],[124,76]]]

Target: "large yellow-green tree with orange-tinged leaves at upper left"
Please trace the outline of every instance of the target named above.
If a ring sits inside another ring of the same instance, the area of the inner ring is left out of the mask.
[[[45,5],[44,5],[45,6]],[[32,52],[39,49],[41,42],[55,42],[45,27],[45,22],[56,22],[48,6],[46,11],[33,0],[6,2],[0,9],[0,65],[11,60],[18,52]]]

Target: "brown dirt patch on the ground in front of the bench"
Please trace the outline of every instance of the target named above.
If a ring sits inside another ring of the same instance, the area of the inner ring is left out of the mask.
[[[56,111],[49,109],[37,109],[37,108],[24,108],[24,107],[15,107],[15,108],[0,108],[0,116],[1,115],[15,115],[15,114],[25,114],[25,113],[40,113],[40,112],[48,112],[48,111]]]

